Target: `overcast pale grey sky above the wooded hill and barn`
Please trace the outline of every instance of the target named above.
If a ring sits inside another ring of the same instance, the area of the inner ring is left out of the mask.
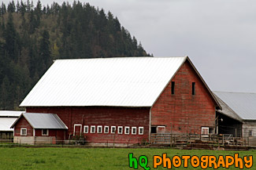
[[[53,1],[41,2],[50,5]],[[210,89],[256,92],[256,1],[80,2],[113,13],[154,56],[189,56]]]

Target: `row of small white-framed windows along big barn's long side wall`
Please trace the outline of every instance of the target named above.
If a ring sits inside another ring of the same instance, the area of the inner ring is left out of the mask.
[[[83,133],[88,133],[89,132],[89,126],[85,125],[83,126]],[[96,126],[95,125],[91,125],[91,133],[95,133],[96,132]],[[116,133],[116,126],[111,126],[110,128],[110,132],[111,133]],[[102,125],[98,125],[97,126],[97,133],[102,133]],[[104,133],[109,133],[109,126],[104,126]],[[137,134],[137,127],[132,127],[131,130],[132,135],[136,135]],[[123,134],[123,126],[117,126],[117,134]],[[124,126],[124,134],[130,134],[130,127],[129,126]],[[144,128],[143,127],[139,127],[139,135],[143,135],[144,134]]]

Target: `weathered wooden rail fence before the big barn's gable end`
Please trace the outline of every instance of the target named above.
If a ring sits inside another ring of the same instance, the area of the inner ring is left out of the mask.
[[[183,149],[247,149],[256,146],[256,137],[234,137],[232,134],[172,134],[155,133],[150,137],[151,146],[173,146]]]

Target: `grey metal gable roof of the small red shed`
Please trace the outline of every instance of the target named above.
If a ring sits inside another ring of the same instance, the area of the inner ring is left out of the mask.
[[[54,128],[54,129],[68,129],[68,127],[61,121],[57,114],[38,114],[38,113],[24,113],[20,118],[28,121],[33,128]],[[18,118],[17,121],[20,119]],[[15,121],[11,128],[16,124]]]

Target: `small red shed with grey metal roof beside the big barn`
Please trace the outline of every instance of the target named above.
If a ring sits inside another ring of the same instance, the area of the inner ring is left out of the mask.
[[[61,143],[68,127],[57,114],[24,113],[13,123],[14,143]]]

